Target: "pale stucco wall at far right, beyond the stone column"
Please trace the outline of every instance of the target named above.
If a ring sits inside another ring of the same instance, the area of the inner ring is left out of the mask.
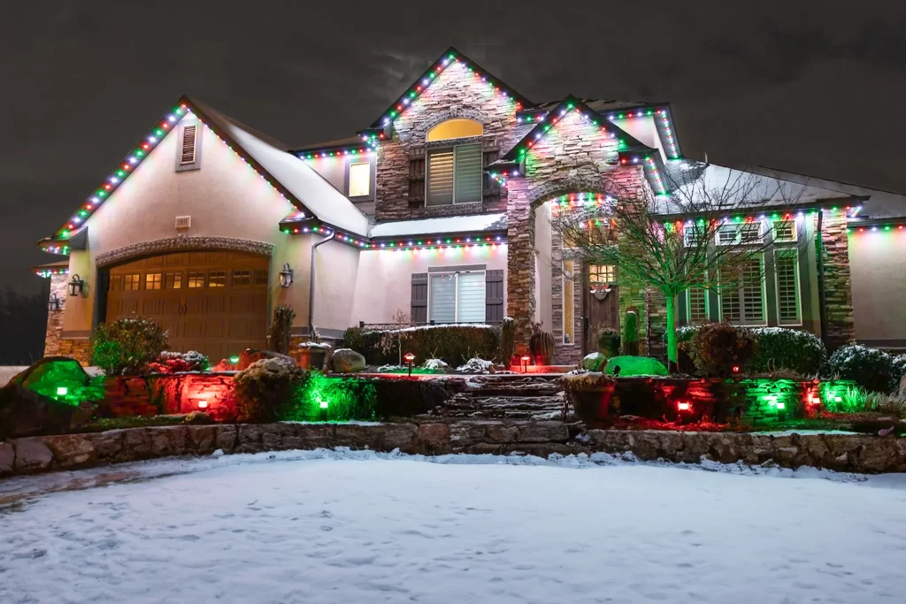
[[[866,229],[849,237],[856,340],[877,346],[906,344],[906,301],[903,258],[906,234]]]

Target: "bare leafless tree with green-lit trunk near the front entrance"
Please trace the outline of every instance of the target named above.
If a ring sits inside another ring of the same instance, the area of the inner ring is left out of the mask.
[[[781,241],[805,244],[805,237],[795,236],[790,214],[805,186],[686,162],[661,178],[669,196],[653,197],[610,178],[602,195],[562,200],[551,223],[571,257],[616,266],[616,284],[639,283],[663,294],[668,367],[674,371],[677,296],[690,289],[725,292],[755,280],[760,287],[761,254]],[[759,211],[782,217],[753,218]]]

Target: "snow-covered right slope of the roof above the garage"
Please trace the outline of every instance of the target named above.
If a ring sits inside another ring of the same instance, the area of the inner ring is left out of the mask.
[[[193,102],[308,207],[314,216],[354,235],[368,235],[368,218],[361,210],[302,159],[287,153],[283,143],[198,101]]]

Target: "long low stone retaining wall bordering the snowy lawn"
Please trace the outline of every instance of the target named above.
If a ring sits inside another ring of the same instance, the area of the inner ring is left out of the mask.
[[[454,421],[381,424],[259,424],[172,426],[94,434],[33,436],[0,443],[0,476],[33,474],[169,455],[258,453],[349,446],[404,453],[548,456],[594,452],[642,460],[813,465],[837,471],[906,472],[906,438],[893,436],[766,436],[660,430],[587,430],[582,424],[533,421]]]

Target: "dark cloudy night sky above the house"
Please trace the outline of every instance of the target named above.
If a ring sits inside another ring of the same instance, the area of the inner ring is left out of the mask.
[[[533,101],[670,101],[685,154],[906,192],[906,3],[0,4],[0,284],[188,94],[290,145],[354,134],[449,45]],[[154,208],[149,207],[149,212]]]

